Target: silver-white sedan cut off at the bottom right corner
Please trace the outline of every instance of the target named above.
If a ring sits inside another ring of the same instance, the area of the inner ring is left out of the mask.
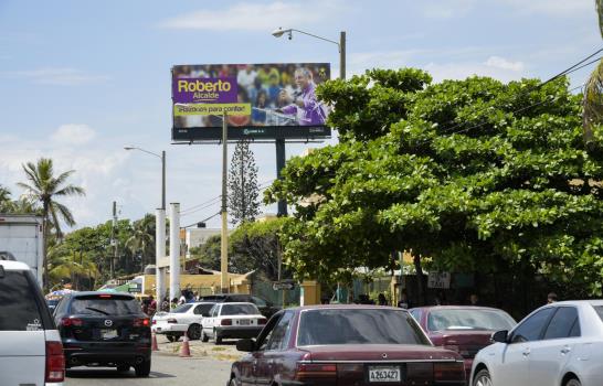
[[[603,300],[548,304],[477,353],[473,386],[600,386]]]

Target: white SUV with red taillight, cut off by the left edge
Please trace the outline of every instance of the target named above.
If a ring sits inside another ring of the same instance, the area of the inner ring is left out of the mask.
[[[0,258],[0,384],[62,386],[61,336],[30,267]]]

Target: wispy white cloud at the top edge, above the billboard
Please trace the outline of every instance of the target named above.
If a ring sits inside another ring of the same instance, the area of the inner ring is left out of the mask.
[[[216,11],[198,11],[182,14],[160,23],[160,26],[179,30],[244,30],[272,31],[282,25],[308,25],[327,22],[341,15],[342,9],[349,9],[342,1],[306,2],[276,1],[268,4],[239,3]]]

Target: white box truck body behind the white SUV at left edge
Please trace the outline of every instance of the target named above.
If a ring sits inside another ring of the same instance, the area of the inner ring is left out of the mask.
[[[44,271],[44,233],[42,217],[35,215],[0,213],[0,260],[25,262],[42,286]]]

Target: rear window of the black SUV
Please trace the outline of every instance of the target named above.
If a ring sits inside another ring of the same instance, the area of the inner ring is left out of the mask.
[[[80,315],[128,315],[140,312],[140,304],[129,297],[86,296],[73,299],[71,304],[71,313]]]

